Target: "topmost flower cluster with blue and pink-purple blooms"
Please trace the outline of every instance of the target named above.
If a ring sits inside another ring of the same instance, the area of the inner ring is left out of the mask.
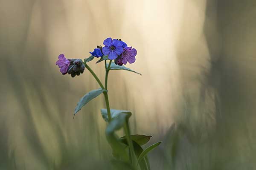
[[[108,55],[108,59],[114,59],[115,63],[120,66],[127,64],[127,62],[130,64],[135,62],[135,56],[137,55],[136,49],[128,47],[121,39],[112,40],[112,38],[107,38],[104,40],[103,44],[105,45],[103,48],[97,46],[97,48],[95,48],[93,52],[90,52],[90,54],[94,57]]]

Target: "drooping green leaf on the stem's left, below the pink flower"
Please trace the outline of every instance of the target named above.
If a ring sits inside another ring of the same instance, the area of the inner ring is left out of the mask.
[[[75,108],[75,112],[74,112],[74,116],[75,114],[81,110],[81,108],[86,105],[88,102],[90,102],[90,100],[94,99],[95,97],[99,96],[100,94],[102,94],[103,92],[105,92],[105,89],[99,88],[97,90],[93,90],[90,91],[89,93],[85,94],[77,103],[76,108]]]

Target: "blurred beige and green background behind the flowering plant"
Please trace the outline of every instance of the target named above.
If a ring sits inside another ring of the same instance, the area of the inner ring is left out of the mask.
[[[111,71],[111,108],[163,141],[152,170],[256,169],[255,0],[0,0],[0,170],[111,169],[98,88],[55,62],[107,37],[137,49]],[[104,63],[89,65],[103,80]],[[122,135],[122,131],[119,132]]]

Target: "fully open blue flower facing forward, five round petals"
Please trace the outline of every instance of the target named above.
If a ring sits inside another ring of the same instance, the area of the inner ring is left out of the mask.
[[[122,45],[124,44],[122,41],[107,38],[104,40],[103,44],[105,47],[102,48],[102,52],[104,55],[108,55],[108,59],[116,59],[123,52]]]

